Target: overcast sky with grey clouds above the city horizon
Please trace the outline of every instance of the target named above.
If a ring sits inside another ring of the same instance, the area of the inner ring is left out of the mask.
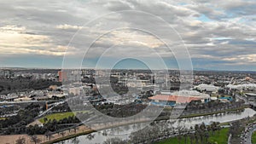
[[[0,67],[256,71],[255,0],[0,5]]]

